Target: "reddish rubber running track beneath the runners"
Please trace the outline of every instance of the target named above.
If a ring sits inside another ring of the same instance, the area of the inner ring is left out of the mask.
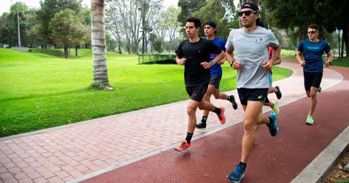
[[[272,137],[266,125],[259,128],[241,183],[290,182],[349,125],[349,70],[329,69],[344,79],[318,93],[314,125],[305,124],[309,98],[280,107],[279,134]],[[228,183],[225,176],[240,161],[242,137],[239,123],[192,141],[185,153],[171,149],[83,182]]]

